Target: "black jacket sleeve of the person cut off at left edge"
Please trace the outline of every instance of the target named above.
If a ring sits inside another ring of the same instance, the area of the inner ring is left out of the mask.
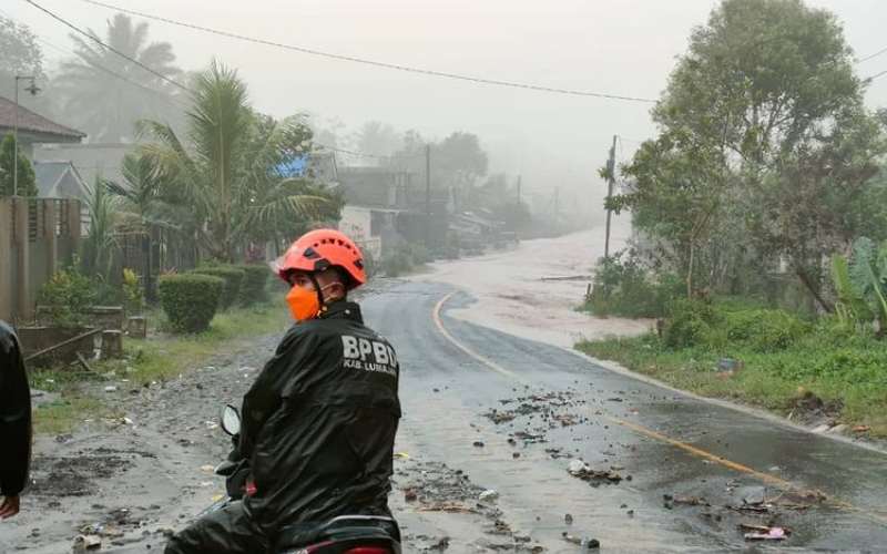
[[[0,321],[0,494],[16,496],[31,459],[31,390],[16,332]]]

